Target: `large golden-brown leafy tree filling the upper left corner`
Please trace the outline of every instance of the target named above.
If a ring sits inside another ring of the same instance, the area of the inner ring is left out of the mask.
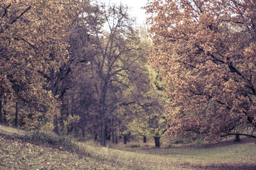
[[[67,28],[82,1],[0,3],[0,99],[8,94],[52,117],[58,113],[43,75],[68,58]],[[1,115],[1,114],[0,114]]]

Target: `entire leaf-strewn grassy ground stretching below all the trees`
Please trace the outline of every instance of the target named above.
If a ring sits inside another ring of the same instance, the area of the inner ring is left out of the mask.
[[[0,125],[0,169],[256,169],[255,141],[247,138],[161,148],[109,141],[103,148],[48,134]]]

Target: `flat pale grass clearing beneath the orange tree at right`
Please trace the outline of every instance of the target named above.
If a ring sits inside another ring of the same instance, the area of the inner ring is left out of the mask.
[[[86,147],[92,143],[80,145]],[[140,165],[137,167],[141,169],[256,169],[256,145],[252,142],[177,148],[154,148],[148,145],[134,148],[133,145],[109,144],[113,148],[90,146],[88,151],[97,157],[106,157],[122,164],[132,162]]]

